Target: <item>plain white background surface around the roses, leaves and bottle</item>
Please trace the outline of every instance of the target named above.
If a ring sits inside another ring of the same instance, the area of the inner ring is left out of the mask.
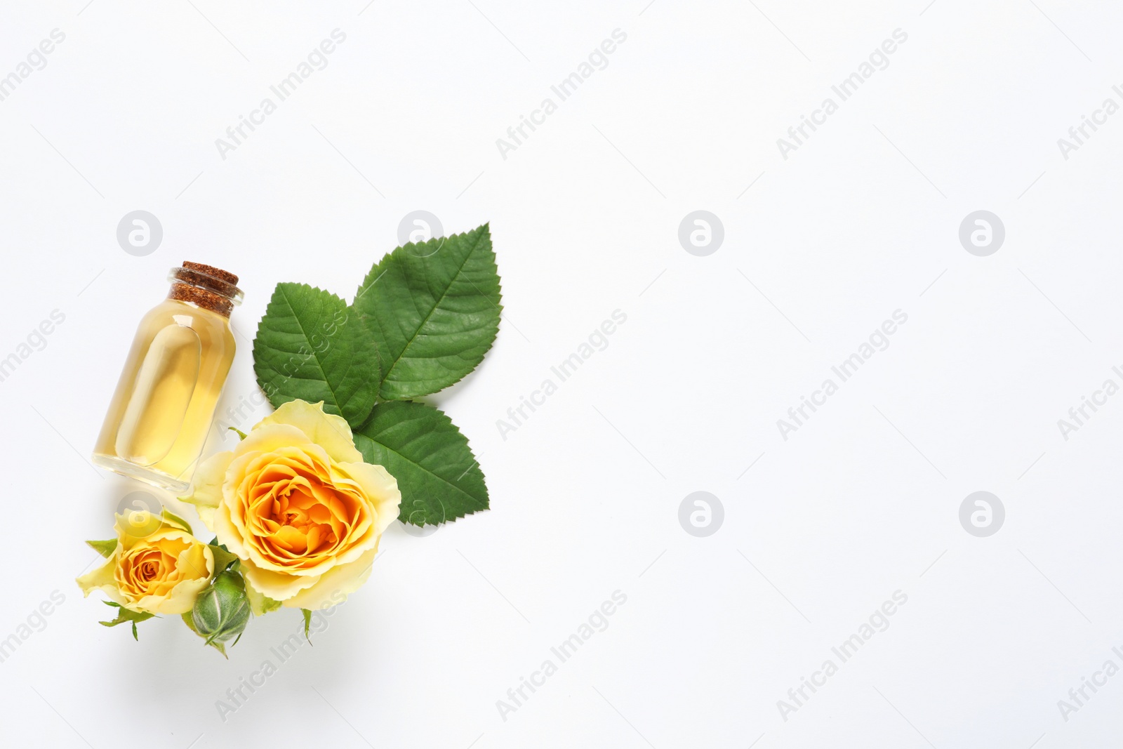
[[[1057,139],[1123,103],[1119,8],[85,2],[0,18],[0,76],[66,35],[0,101],[0,358],[65,314],[0,382],[0,638],[65,596],[0,664],[4,746],[1117,746],[1123,676],[1067,721],[1058,701],[1123,666],[1123,396],[1067,440],[1057,421],[1123,383],[1123,115],[1068,159]],[[223,159],[216,138],[336,28],[328,66]],[[617,28],[608,67],[504,159],[496,138]],[[897,28],[889,66],[783,158]],[[116,238],[138,209],[164,229],[145,257]],[[499,339],[427,399],[492,509],[391,528],[314,649],[223,721],[299,613],[253,621],[227,661],[174,619],[139,643],[98,625],[73,582],[137,488],[86,462],[136,322],[183,259],[241,275],[237,405],[273,285],[350,299],[418,209],[492,226]],[[725,234],[706,257],[677,238],[700,209]],[[976,210],[1005,225],[988,257],[958,239]],[[504,440],[496,420],[618,309]],[[898,309],[889,347],[783,439]],[[678,522],[695,491],[724,506],[706,538]],[[959,522],[975,491],[1005,506],[988,538]],[[617,590],[610,627],[504,721],[496,701]],[[777,701],[898,590],[891,627],[785,721]]]

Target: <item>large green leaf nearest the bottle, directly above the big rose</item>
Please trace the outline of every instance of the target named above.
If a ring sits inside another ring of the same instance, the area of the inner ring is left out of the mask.
[[[274,407],[301,399],[351,426],[363,423],[378,395],[375,335],[335,294],[279,283],[254,338],[254,372]]]

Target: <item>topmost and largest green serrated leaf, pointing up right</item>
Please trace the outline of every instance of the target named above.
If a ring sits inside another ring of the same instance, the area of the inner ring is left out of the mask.
[[[436,393],[476,368],[499,332],[499,270],[485,223],[399,247],[359,286],[382,357],[378,398]]]

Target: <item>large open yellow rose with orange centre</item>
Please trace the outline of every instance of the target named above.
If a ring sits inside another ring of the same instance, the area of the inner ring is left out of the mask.
[[[182,499],[241,559],[250,601],[322,609],[369,577],[402,495],[384,467],[363,462],[345,419],[298,400],[208,458]]]

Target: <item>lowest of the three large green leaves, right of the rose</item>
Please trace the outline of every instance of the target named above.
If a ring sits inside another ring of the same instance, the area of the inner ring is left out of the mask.
[[[487,509],[484,474],[467,438],[431,405],[380,403],[355,432],[355,447],[398,479],[402,522],[435,526]]]

